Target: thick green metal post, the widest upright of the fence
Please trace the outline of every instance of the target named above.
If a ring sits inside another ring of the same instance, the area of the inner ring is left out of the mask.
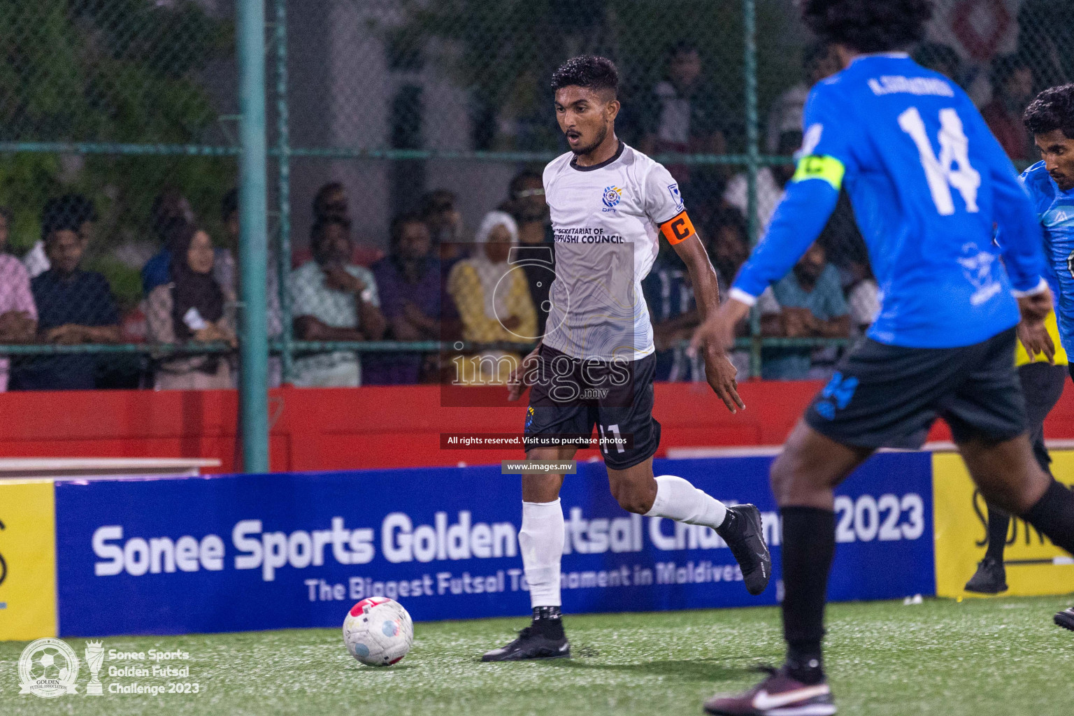
[[[238,0],[238,370],[243,469],[268,471],[268,335],[265,320],[267,138],[265,136],[264,0]]]

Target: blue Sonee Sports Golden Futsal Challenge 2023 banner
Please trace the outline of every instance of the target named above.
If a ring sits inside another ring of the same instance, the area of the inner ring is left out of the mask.
[[[604,466],[580,464],[562,492],[564,610],[777,603],[780,524],[770,463],[655,462],[658,473],[760,508],[775,568],[760,597],[745,591],[711,529],[628,514],[608,494]],[[337,627],[351,601],[380,595],[402,601],[416,619],[522,615],[529,600],[520,502],[518,480],[498,465],[57,481],[58,631]],[[934,593],[929,455],[875,456],[840,487],[836,507],[833,599]]]

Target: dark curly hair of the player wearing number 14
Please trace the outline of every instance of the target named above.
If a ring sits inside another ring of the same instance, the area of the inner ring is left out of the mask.
[[[925,36],[931,0],[806,0],[802,20],[822,41],[859,53],[904,49]]]

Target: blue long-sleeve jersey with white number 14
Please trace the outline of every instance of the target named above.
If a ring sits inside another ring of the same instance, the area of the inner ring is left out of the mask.
[[[798,170],[731,297],[752,304],[782,278],[845,184],[881,290],[870,338],[953,348],[1017,324],[1012,293],[1042,286],[1041,225],[959,87],[904,54],[866,55],[813,88],[803,123]]]

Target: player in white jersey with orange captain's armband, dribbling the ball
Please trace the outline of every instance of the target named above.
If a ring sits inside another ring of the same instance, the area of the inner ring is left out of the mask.
[[[716,275],[670,173],[615,136],[619,76],[603,57],[576,57],[552,78],[555,112],[570,151],[545,169],[555,234],[555,280],[538,347],[512,374],[510,398],[531,386],[525,435],[600,438],[611,493],[623,509],[714,529],[730,547],[750,594],[771,576],[760,513],[724,506],[682,478],[653,474],[661,426],[653,420],[653,331],[641,280],[661,235],[688,272],[700,318],[720,304]],[[715,344],[715,341],[713,341]],[[745,406],[736,369],[713,346],[705,352],[712,390],[735,412]],[[576,447],[533,447],[531,461],[569,461]],[[522,476],[519,546],[533,622],[484,661],[570,656],[560,600],[563,474]]]

